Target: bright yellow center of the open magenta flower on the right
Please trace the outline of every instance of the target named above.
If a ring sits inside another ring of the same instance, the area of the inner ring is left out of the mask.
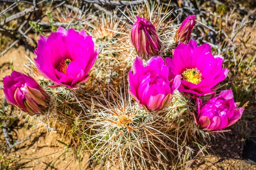
[[[197,68],[192,68],[192,69],[186,69],[186,71],[183,71],[182,73],[182,79],[191,82],[195,85],[201,82],[202,78],[202,73]]]

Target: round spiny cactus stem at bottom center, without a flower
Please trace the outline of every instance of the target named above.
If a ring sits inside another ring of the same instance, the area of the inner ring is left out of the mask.
[[[100,116],[89,121],[90,128],[98,132],[91,136],[96,143],[92,154],[101,159],[131,162],[132,168],[138,166],[134,163],[136,159],[142,160],[140,166],[143,169],[148,163],[168,161],[164,153],[173,153],[175,149],[170,146],[177,143],[170,135],[172,128],[169,128],[170,122],[164,120],[165,116],[138,107],[128,96],[113,100],[116,105],[102,105]],[[127,165],[122,166],[126,169]]]

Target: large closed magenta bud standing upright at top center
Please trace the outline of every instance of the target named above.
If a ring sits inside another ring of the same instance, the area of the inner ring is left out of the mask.
[[[140,17],[137,17],[131,28],[131,44],[137,54],[145,59],[157,56],[161,50],[156,28],[150,21]]]

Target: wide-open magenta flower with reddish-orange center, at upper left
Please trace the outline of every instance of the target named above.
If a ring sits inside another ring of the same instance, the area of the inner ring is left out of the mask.
[[[50,87],[74,89],[87,80],[98,53],[94,51],[92,37],[84,30],[78,33],[59,27],[48,38],[41,36],[38,40],[35,65],[39,73],[56,84]]]

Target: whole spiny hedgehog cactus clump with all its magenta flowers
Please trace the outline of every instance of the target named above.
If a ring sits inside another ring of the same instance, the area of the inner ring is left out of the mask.
[[[72,141],[69,146],[76,146],[75,155],[88,149],[90,159],[120,163],[122,169],[182,169],[175,161],[184,158],[187,143],[232,125],[244,109],[237,107],[231,91],[209,99],[228,69],[222,68],[221,56],[212,55],[209,44],[197,46],[189,40],[195,16],[176,32],[180,43],[175,48],[171,11],[168,6],[159,9],[143,6],[135,12],[152,23],[137,17],[131,26],[131,16],[119,25],[100,22],[106,28],[88,29],[92,36],[61,27],[41,36],[35,63],[29,65],[31,77],[13,72],[4,78],[7,101],[38,114],[38,121],[54,122]],[[99,26],[98,17],[91,18]],[[101,45],[100,52],[95,50]]]

